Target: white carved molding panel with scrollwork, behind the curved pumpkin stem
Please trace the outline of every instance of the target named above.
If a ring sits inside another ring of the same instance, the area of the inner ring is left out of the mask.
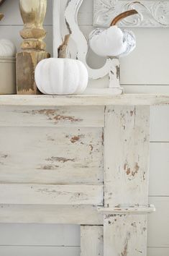
[[[93,0],[93,25],[109,27],[111,20],[129,9],[139,14],[127,17],[119,23],[122,27],[168,27],[169,1],[120,1]]]

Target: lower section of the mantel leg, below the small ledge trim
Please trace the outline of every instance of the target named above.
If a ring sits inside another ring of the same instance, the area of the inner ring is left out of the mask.
[[[146,255],[147,217],[112,215],[104,217],[104,255]]]

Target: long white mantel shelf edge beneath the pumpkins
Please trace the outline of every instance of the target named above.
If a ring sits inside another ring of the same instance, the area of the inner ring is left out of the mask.
[[[0,106],[157,106],[169,105],[169,95],[1,95]]]

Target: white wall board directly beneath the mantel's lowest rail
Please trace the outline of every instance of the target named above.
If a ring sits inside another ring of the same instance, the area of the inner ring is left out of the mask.
[[[63,245],[78,247],[81,244],[81,227],[78,225],[4,223],[0,225],[0,247],[7,244],[34,247]]]

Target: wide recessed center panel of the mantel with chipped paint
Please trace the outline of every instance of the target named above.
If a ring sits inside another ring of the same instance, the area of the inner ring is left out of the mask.
[[[103,129],[1,127],[1,183],[103,182]]]

